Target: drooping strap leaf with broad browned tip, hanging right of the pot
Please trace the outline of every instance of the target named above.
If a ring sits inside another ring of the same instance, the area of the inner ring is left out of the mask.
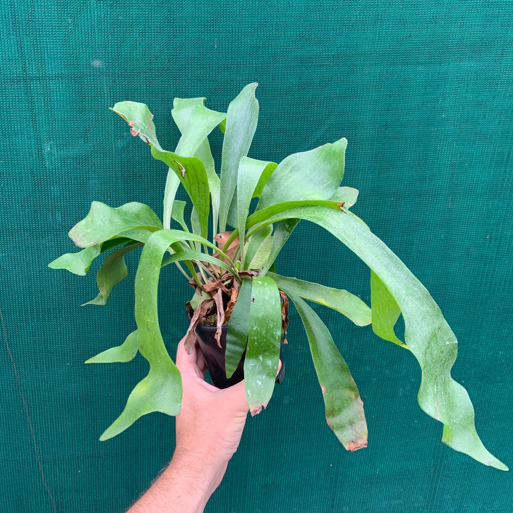
[[[367,423],[358,387],[326,325],[297,295],[287,292],[305,326],[324,398],[326,421],[350,451],[367,447]]]

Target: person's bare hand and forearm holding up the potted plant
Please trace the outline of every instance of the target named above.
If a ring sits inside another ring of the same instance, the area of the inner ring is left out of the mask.
[[[129,513],[201,513],[241,440],[249,410],[244,381],[223,390],[207,383],[201,351],[187,354],[184,339],[176,351],[183,397],[173,459]]]

